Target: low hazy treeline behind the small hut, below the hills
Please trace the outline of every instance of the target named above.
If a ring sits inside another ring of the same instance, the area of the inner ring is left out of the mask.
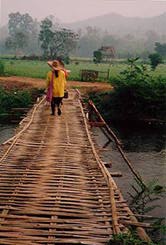
[[[165,44],[166,36],[161,36],[150,30],[145,33],[144,37],[132,34],[121,37],[97,28],[87,27],[80,35],[76,54],[77,56],[92,57],[93,51],[98,50],[101,46],[112,46],[117,58],[139,56],[146,59],[150,53],[154,52],[155,43]]]

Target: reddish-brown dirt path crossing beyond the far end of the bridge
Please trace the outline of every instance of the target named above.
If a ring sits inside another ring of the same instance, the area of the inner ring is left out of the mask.
[[[7,89],[12,88],[45,88],[45,80],[38,78],[29,77],[0,77],[0,85]],[[107,91],[112,87],[106,82],[79,82],[79,81],[68,81],[68,88],[78,88],[81,92],[88,92],[92,90]]]

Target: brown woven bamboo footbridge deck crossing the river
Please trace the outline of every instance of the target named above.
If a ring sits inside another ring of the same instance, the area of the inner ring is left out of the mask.
[[[75,90],[61,116],[41,98],[0,154],[0,244],[102,245],[132,223],[148,239],[97,154]]]

